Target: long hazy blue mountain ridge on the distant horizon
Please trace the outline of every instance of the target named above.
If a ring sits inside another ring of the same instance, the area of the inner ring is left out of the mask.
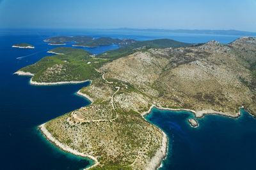
[[[153,32],[177,32],[177,33],[191,33],[191,34],[221,34],[234,36],[256,36],[256,32],[237,31],[237,30],[210,30],[210,29],[132,29],[132,28],[118,28],[113,30],[124,31],[153,31]]]

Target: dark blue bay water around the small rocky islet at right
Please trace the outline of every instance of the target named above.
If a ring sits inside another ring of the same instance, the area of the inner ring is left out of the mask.
[[[154,108],[145,118],[168,135],[161,169],[255,169],[256,119],[245,111],[237,119],[206,115],[197,128],[188,111]]]

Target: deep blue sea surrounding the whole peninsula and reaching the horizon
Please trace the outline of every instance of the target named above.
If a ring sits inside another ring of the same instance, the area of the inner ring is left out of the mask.
[[[0,30],[0,169],[81,169],[92,162],[62,152],[49,143],[36,127],[63,113],[90,104],[76,96],[88,85],[29,85],[28,76],[13,75],[21,67],[33,64],[56,46],[43,40],[51,36],[93,36],[150,40],[170,38],[188,43],[215,39],[230,43],[238,36],[177,34],[111,30]],[[19,49],[16,43],[29,43],[35,49]],[[72,46],[67,43],[64,46]],[[92,53],[114,50],[117,45],[84,48]],[[18,59],[17,59],[18,58]],[[237,120],[206,116],[200,127],[189,127],[189,113],[152,111],[147,119],[161,127],[170,139],[168,157],[162,169],[252,169],[256,160],[256,122],[246,113]],[[191,165],[191,167],[189,166]]]

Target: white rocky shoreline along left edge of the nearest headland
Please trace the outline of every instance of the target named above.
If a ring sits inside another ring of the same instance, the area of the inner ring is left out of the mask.
[[[93,157],[92,155],[87,155],[85,153],[74,150],[74,149],[70,148],[69,146],[64,145],[63,143],[60,143],[60,141],[58,141],[58,139],[54,138],[52,136],[52,134],[46,129],[45,124],[39,125],[38,128],[40,129],[40,132],[42,132],[42,134],[45,136],[46,139],[48,139],[49,141],[54,143],[54,145],[56,145],[61,150],[65,151],[65,152],[72,153],[79,157],[85,157],[88,159],[92,159],[95,162],[95,164],[93,164],[93,166],[87,167],[84,170],[90,169],[91,167],[95,167],[99,164],[98,160],[95,157]]]

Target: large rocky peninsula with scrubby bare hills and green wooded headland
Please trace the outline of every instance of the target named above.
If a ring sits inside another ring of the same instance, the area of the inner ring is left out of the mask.
[[[19,71],[38,83],[92,80],[79,90],[92,104],[39,127],[61,149],[93,159],[90,169],[157,169],[168,138],[143,117],[153,107],[196,118],[236,118],[241,106],[256,113],[256,38],[228,45],[139,41],[95,57],[74,48],[51,52],[62,54]]]

